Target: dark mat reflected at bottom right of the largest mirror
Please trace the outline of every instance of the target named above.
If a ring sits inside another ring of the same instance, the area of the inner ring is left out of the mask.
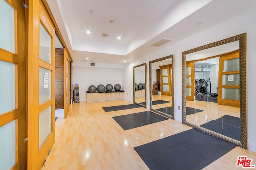
[[[201,125],[206,129],[240,141],[240,118],[224,115],[219,119]]]

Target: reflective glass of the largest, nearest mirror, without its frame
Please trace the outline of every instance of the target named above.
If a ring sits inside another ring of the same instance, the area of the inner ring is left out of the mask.
[[[187,122],[240,141],[239,65],[239,41],[186,55]]]

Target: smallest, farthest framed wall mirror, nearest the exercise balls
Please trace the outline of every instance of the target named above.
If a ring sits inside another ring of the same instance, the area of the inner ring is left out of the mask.
[[[133,67],[133,102],[146,108],[146,63]]]

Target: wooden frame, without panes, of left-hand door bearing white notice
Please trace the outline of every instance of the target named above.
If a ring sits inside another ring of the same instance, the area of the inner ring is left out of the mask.
[[[41,0],[29,1],[28,4],[28,169],[41,169],[44,160],[52,148],[55,137],[54,122],[54,39],[55,28]],[[46,27],[52,37],[51,64],[39,59],[39,26]],[[39,105],[39,67],[51,70],[51,99]],[[51,133],[39,149],[39,113],[51,107]]]

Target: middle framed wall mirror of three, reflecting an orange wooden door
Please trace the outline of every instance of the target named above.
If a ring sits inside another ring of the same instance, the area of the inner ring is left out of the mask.
[[[174,56],[149,62],[150,110],[174,119]]]

